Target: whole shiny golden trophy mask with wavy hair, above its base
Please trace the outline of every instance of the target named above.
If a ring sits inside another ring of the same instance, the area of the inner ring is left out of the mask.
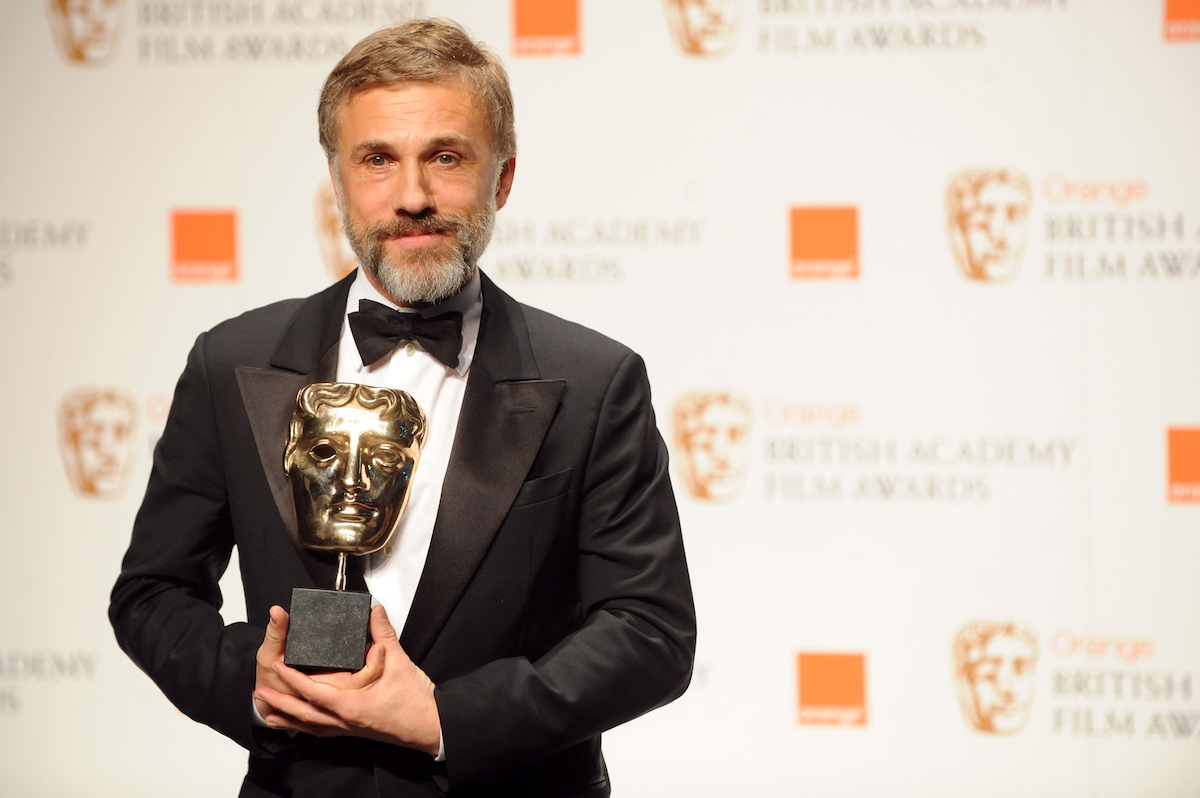
[[[408,503],[425,427],[425,414],[403,391],[304,388],[283,455],[300,542],[352,554],[385,546]]]

